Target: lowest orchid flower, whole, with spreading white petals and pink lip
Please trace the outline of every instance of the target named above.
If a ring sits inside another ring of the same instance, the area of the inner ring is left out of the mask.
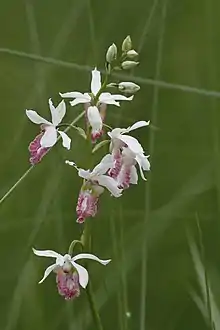
[[[40,257],[55,258],[56,261],[44,272],[43,278],[39,283],[42,283],[48,275],[54,271],[57,274],[57,287],[60,295],[65,299],[78,297],[80,294],[80,287],[86,288],[89,281],[89,274],[85,267],[79,265],[76,261],[83,259],[91,259],[98,261],[102,265],[107,265],[111,259],[102,260],[90,253],[80,253],[74,257],[70,254],[64,256],[52,250],[35,250],[34,254]]]

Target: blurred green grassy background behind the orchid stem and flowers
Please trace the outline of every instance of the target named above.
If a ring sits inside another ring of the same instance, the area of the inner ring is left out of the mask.
[[[107,267],[90,263],[105,330],[210,329],[198,219],[220,329],[219,13],[218,0],[1,0],[1,196],[29,167],[38,127],[24,110],[49,119],[49,97],[88,91],[90,70],[104,68],[112,42],[130,34],[140,52],[134,72],[114,81],[141,90],[131,103],[109,106],[107,123],[151,120],[134,135],[151,154],[152,171],[120,199],[104,194],[91,220],[93,252],[113,259]],[[82,111],[68,109],[66,121]],[[87,168],[88,158],[82,139],[71,137],[71,151],[58,143],[0,205],[0,329],[95,330],[85,292],[65,302],[53,274],[38,285],[50,260],[31,252],[66,253],[80,235],[81,181],[64,160]]]

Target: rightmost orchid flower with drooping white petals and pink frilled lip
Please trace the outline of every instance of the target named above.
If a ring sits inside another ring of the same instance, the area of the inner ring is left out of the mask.
[[[127,147],[130,149],[131,152],[135,155],[134,159],[137,159],[136,161],[141,163],[145,162],[143,161],[144,156],[144,150],[140,144],[140,142],[135,139],[134,137],[127,135],[126,133],[129,133],[137,128],[148,126],[150,121],[138,121],[132,126],[129,126],[128,128],[114,128],[111,132],[108,132],[109,137],[111,138],[110,143],[110,151],[114,158],[114,165],[109,171],[109,175],[113,178],[117,178],[119,175],[119,172],[122,167],[123,157],[122,157],[122,148]],[[146,164],[145,164],[146,165]],[[141,176],[144,177],[142,168],[146,168],[146,166],[141,166]]]

